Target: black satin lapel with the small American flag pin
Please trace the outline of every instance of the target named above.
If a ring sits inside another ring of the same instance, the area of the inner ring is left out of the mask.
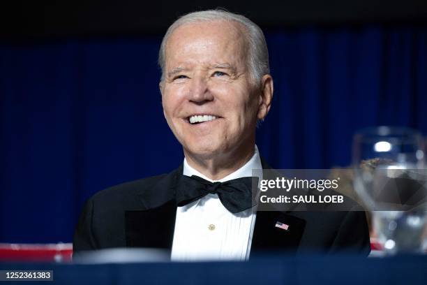
[[[262,168],[271,169],[261,158]],[[280,227],[287,227],[287,230]],[[291,251],[298,249],[306,221],[292,216],[292,212],[257,212],[251,252]]]

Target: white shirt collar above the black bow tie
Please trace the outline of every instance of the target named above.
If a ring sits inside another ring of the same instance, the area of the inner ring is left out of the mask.
[[[250,177],[250,176],[253,176],[253,173],[252,173],[253,169],[262,169],[260,153],[258,152],[258,147],[256,145],[255,145],[255,153],[249,159],[249,161],[245,163],[244,166],[242,166],[238,170],[234,171],[234,173],[230,173],[229,175],[225,176],[220,180],[209,179],[208,177],[206,177],[205,175],[203,175],[202,173],[200,173],[199,171],[195,170],[190,165],[188,165],[187,159],[185,158],[183,162],[183,175],[186,175],[186,176],[197,175],[199,177],[202,177],[204,180],[208,180],[210,182],[225,182],[225,181],[237,179],[240,177]],[[262,172],[257,171],[257,173],[262,173]],[[258,177],[258,178],[262,180],[262,177]]]

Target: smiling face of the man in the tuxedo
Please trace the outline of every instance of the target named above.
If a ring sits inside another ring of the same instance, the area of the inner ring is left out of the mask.
[[[196,22],[167,41],[163,110],[186,154],[209,159],[253,145],[260,105],[239,24]]]

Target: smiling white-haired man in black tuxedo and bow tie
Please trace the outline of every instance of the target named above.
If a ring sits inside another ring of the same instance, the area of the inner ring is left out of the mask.
[[[163,38],[159,64],[163,111],[183,146],[183,166],[93,196],[75,231],[75,251],[158,247],[177,261],[243,261],[264,249],[368,254],[363,212],[256,212],[246,199],[243,177],[268,168],[255,129],[273,96],[256,24],[223,10],[185,15]],[[278,231],[278,221],[292,231]]]

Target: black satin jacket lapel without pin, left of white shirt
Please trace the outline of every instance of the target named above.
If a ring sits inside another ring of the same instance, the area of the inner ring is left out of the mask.
[[[172,249],[178,175],[182,175],[182,166],[138,194],[143,210],[125,212],[127,247]]]

